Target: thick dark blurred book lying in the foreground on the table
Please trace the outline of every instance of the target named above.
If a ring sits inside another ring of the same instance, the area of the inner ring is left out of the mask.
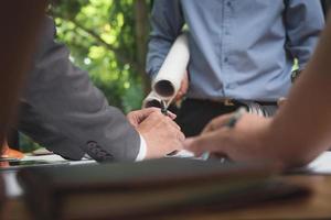
[[[139,163],[20,169],[32,219],[158,219],[297,198],[306,187],[277,178],[268,164],[159,158]]]

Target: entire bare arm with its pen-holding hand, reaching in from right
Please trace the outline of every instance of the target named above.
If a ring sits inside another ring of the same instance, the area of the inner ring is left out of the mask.
[[[330,20],[331,21],[331,20]],[[186,148],[225,154],[234,161],[266,160],[287,167],[309,163],[331,144],[331,23],[314,55],[293,85],[289,102],[274,119],[244,116],[234,129],[222,128],[228,116],[213,120]]]

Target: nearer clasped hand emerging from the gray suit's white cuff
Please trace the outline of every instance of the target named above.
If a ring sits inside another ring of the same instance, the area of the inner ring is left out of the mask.
[[[160,110],[152,111],[136,128],[147,144],[146,158],[163,157],[167,154],[182,150],[185,140],[171,118],[163,116]]]

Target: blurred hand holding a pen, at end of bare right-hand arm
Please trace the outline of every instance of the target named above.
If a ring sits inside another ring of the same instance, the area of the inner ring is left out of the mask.
[[[184,148],[194,152],[196,156],[210,152],[226,155],[233,161],[268,158],[265,136],[271,119],[246,113],[235,128],[224,128],[229,117],[225,114],[212,120],[201,135],[186,139]]]

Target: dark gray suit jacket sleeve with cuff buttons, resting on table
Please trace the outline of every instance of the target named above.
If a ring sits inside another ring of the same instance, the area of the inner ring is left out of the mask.
[[[19,130],[63,157],[134,161],[140,139],[125,116],[110,107],[64,45],[54,42],[46,19],[28,86],[20,102]]]

